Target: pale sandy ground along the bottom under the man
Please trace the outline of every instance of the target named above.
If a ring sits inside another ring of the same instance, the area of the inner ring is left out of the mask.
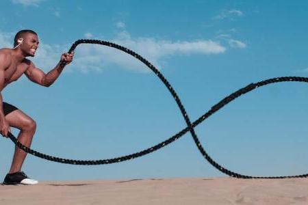
[[[174,178],[0,186],[0,204],[308,204],[308,178]]]

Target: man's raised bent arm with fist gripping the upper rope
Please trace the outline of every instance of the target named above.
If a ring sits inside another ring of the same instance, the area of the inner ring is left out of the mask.
[[[66,64],[70,64],[71,61],[73,61],[73,55],[74,53],[64,53],[61,56],[60,62],[53,68],[51,71],[49,71],[47,74],[45,74],[42,70],[39,68],[36,68],[34,64],[30,61],[29,68],[25,72],[25,75],[30,79],[30,81],[34,83],[38,83],[39,85],[49,87],[52,85],[57,77],[60,76],[62,70],[64,69],[64,66],[61,65],[61,61],[66,61]]]

